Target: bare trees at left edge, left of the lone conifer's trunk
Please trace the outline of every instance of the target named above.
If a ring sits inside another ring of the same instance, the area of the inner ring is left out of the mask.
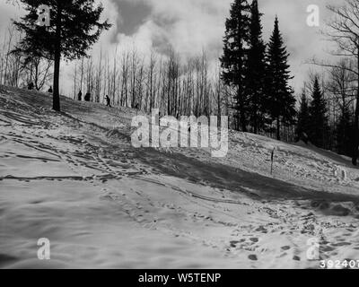
[[[47,88],[52,78],[52,62],[17,52],[15,47],[22,35],[13,25],[1,32],[0,84],[23,88],[33,83],[37,91]]]

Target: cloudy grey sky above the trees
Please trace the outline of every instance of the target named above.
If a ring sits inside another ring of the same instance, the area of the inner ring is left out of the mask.
[[[280,30],[291,54],[290,64],[297,92],[302,87],[306,72],[311,68],[306,62],[313,56],[327,57],[328,42],[319,34],[328,20],[327,4],[340,4],[343,0],[258,0],[264,13],[264,39],[273,30],[276,15]],[[0,30],[6,28],[10,18],[21,11],[0,0]],[[114,24],[104,33],[94,48],[113,51],[116,47],[135,45],[146,53],[155,48],[165,54],[172,47],[182,57],[189,57],[205,49],[213,63],[221,54],[225,18],[232,0],[103,0],[106,17]],[[320,27],[307,25],[307,7],[320,7]]]

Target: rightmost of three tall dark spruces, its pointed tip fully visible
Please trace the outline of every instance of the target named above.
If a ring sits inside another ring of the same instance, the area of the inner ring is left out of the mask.
[[[292,79],[289,72],[289,54],[286,52],[283,36],[279,31],[276,17],[275,29],[269,40],[267,50],[267,110],[272,120],[276,120],[276,139],[280,140],[281,123],[293,124],[296,116]]]

